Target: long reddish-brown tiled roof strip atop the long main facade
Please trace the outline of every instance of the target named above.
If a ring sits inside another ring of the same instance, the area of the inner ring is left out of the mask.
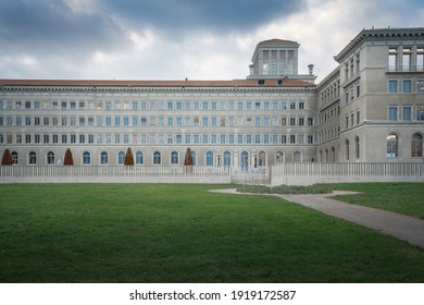
[[[75,87],[314,87],[298,80],[233,81],[115,81],[115,80],[0,80],[0,86],[75,86]],[[280,83],[280,84],[278,84]]]

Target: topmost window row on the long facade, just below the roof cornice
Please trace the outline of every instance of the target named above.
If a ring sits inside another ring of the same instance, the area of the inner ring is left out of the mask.
[[[287,110],[304,109],[304,101],[51,101],[0,100],[2,109],[48,110]]]

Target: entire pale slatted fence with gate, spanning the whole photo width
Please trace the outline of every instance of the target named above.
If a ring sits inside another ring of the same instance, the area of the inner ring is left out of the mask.
[[[271,186],[341,182],[424,182],[424,163],[282,163],[226,167],[0,166],[0,183],[238,183]]]

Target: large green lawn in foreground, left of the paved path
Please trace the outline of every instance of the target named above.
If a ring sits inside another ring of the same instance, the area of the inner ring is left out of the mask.
[[[424,251],[234,185],[0,184],[0,282],[423,282]]]

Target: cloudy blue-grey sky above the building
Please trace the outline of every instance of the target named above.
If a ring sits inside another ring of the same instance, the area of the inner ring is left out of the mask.
[[[422,0],[0,0],[0,78],[245,78],[255,45],[300,42],[319,80],[362,28],[424,26]]]

